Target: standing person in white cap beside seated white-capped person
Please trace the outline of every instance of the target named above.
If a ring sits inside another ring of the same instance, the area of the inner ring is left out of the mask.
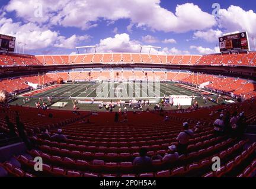
[[[193,138],[194,132],[188,128],[188,123],[183,123],[183,128],[185,129],[183,132],[180,132],[180,134],[177,137],[178,141],[178,153],[179,154],[187,154],[187,146],[189,139]]]

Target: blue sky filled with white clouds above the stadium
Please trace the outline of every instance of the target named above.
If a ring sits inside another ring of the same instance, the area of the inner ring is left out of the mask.
[[[153,45],[161,54],[209,54],[217,53],[217,37],[226,32],[248,31],[252,50],[256,37],[255,1],[1,0],[0,7],[0,33],[17,37],[28,54],[71,54],[81,45],[97,45],[99,52]]]

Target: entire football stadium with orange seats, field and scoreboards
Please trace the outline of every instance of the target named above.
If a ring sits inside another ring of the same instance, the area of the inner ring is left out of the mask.
[[[36,55],[0,38],[0,177],[255,177],[247,31],[204,55]]]

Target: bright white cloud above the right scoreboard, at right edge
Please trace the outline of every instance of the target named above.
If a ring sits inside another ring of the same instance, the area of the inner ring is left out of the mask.
[[[239,6],[231,5],[228,9],[220,9],[220,28],[225,28],[227,32],[247,31],[249,37],[256,37],[256,13],[252,10],[245,11]]]

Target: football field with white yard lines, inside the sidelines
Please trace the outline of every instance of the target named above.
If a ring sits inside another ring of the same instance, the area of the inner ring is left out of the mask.
[[[46,88],[47,89],[47,88]],[[32,97],[72,99],[153,99],[170,95],[201,96],[200,92],[164,83],[78,83],[57,85],[49,90],[33,92]],[[29,94],[29,93],[28,93]]]

